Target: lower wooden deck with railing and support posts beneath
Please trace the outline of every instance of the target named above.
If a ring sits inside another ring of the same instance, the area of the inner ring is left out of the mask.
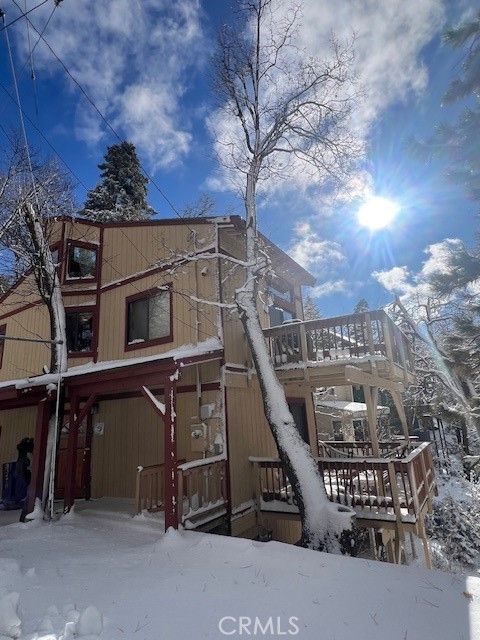
[[[400,562],[405,534],[422,541],[430,565],[425,516],[436,493],[431,444],[380,442],[379,456],[371,442],[329,442],[316,458],[327,497],[353,507],[356,524],[371,532],[392,532],[391,555]],[[250,458],[255,476],[255,501],[262,514],[298,518],[292,486],[277,458]]]

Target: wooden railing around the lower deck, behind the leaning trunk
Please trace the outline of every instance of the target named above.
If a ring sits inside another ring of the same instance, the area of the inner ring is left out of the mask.
[[[398,446],[398,443],[392,443]],[[292,486],[279,460],[251,458],[257,470],[257,499],[267,511],[295,510]],[[404,458],[317,458],[328,498],[354,507],[362,518],[415,520],[435,489],[430,443]]]

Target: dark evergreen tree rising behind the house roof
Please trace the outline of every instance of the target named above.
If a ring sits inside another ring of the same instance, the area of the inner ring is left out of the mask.
[[[83,215],[96,222],[145,220],[153,210],[147,203],[148,179],[143,175],[135,145],[123,141],[108,147],[98,165],[101,181],[89,191]]]

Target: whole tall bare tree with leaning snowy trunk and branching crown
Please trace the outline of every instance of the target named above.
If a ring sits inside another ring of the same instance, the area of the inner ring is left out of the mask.
[[[352,510],[339,513],[329,502],[323,478],[302,441],[277,379],[257,310],[259,280],[270,269],[257,233],[258,188],[262,181],[310,171],[331,184],[348,174],[358,149],[350,134],[353,106],[351,46],[332,40],[329,59],[295,47],[297,7],[284,11],[276,0],[241,2],[239,24],[221,31],[216,90],[231,126],[217,140],[220,161],[233,171],[246,214],[246,267],[235,303],[262,392],[265,416],[280,459],[297,496],[304,546],[338,549],[350,528]],[[241,26],[246,25],[246,33]]]

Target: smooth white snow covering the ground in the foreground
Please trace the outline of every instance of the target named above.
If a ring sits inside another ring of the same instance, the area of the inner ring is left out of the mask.
[[[88,507],[0,528],[0,638],[235,638],[253,636],[256,618],[258,637],[473,640],[480,580],[276,542],[162,535],[156,518]]]

